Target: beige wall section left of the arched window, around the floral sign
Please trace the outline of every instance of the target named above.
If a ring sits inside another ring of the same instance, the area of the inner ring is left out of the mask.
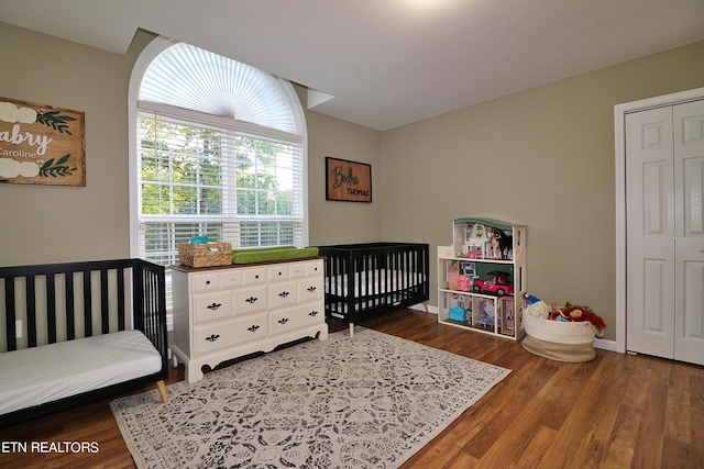
[[[133,58],[0,23],[0,96],[86,113],[85,188],[0,185],[0,265],[129,255]]]

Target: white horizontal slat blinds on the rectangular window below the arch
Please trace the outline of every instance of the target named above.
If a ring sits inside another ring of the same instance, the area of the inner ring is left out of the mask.
[[[208,235],[233,248],[304,243],[301,145],[140,111],[140,234],[146,258],[178,261]]]

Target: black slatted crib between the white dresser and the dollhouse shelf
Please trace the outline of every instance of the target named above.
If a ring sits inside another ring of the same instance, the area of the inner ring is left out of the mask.
[[[428,309],[429,247],[419,243],[319,246],[326,257],[326,314],[350,324],[425,303]]]

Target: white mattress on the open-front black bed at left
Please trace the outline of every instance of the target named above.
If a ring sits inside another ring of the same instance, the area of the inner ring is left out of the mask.
[[[158,372],[162,357],[140,331],[0,354],[0,414]]]

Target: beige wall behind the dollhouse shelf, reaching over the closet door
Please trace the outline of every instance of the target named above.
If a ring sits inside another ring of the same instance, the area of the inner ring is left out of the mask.
[[[698,87],[704,43],[384,132],[383,236],[432,258],[452,219],[525,223],[528,290],[591,306],[615,339],[614,105]]]

